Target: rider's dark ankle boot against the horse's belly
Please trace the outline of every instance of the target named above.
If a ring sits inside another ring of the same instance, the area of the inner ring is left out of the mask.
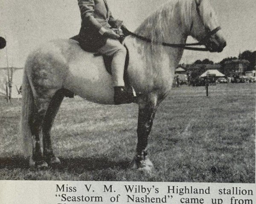
[[[114,103],[115,105],[135,102],[136,97],[133,93],[128,93],[124,86],[114,87]]]

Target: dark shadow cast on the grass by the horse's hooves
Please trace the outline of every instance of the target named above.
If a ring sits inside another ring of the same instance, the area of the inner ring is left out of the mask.
[[[130,160],[113,161],[108,157],[98,158],[59,158],[61,164],[50,167],[52,170],[65,171],[70,173],[83,173],[84,171],[104,170],[108,168],[127,169]],[[22,156],[12,156],[0,158],[0,169],[29,169],[28,159]]]

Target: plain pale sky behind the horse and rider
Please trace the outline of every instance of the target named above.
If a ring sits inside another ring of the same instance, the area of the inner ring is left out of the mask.
[[[134,31],[156,7],[166,0],[107,0],[115,18]],[[227,40],[222,53],[185,51],[181,63],[209,58],[220,62],[239,52],[256,50],[256,0],[209,0],[217,13]],[[0,67],[23,67],[35,47],[55,38],[78,34],[80,11],[77,0],[0,0],[0,36],[7,40],[0,50]],[[189,42],[194,42],[192,38]]]

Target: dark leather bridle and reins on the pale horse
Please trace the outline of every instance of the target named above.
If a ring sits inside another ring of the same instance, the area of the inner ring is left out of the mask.
[[[198,15],[201,18],[201,20],[203,21],[203,18],[201,17],[201,14],[200,14],[200,8],[199,8],[201,2],[198,3],[195,0],[195,3],[196,3],[196,10],[198,12]],[[192,31],[192,28],[193,28],[193,21],[192,21],[191,26],[190,26],[190,32]],[[161,43],[158,43],[158,44],[162,44],[163,46],[166,46],[166,47],[183,48],[185,50],[192,50],[192,51],[210,51],[209,48],[198,48],[198,47],[194,47],[194,46],[204,45],[203,42],[207,42],[207,40],[210,39],[212,37],[212,35],[216,34],[219,30],[221,30],[221,27],[218,26],[217,28],[213,29],[212,31],[205,25],[204,25],[204,28],[207,32],[207,35],[206,35],[206,37],[204,37],[203,40],[201,40],[201,42],[185,43],[185,44],[173,44],[173,43],[161,42]],[[135,34],[135,33],[131,32],[131,31],[128,31],[128,30],[126,32],[128,32],[128,35],[134,36],[134,37],[136,37],[140,40],[143,40],[145,42],[152,42],[152,40],[147,38],[147,37],[143,37],[141,35]],[[155,42],[155,43],[157,43],[157,42]]]

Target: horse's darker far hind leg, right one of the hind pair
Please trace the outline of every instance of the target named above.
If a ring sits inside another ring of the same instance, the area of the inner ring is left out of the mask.
[[[53,153],[50,131],[63,98],[64,98],[64,93],[63,93],[63,90],[60,89],[52,97],[52,100],[48,106],[47,112],[44,117],[44,122],[42,125],[44,158],[47,161],[47,163],[52,166],[61,163],[60,160]]]

